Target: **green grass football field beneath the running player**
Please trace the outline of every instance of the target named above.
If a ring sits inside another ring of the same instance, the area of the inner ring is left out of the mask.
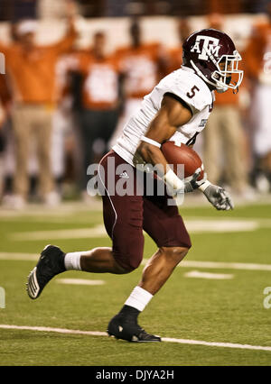
[[[0,365],[270,365],[271,205],[226,213],[184,206],[182,215],[192,250],[139,317],[164,342],[127,343],[104,333],[143,265],[125,276],[66,272],[36,301],[25,292],[46,244],[63,251],[110,246],[100,210],[1,211]],[[145,259],[154,251],[145,236]]]

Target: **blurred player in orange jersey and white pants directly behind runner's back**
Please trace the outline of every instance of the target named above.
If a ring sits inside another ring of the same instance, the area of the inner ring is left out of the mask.
[[[140,107],[142,98],[149,94],[157,81],[164,77],[168,62],[159,42],[143,42],[143,32],[138,18],[132,19],[129,35],[130,46],[117,50],[120,71],[124,77],[126,99],[111,145],[116,143],[124,124]]]

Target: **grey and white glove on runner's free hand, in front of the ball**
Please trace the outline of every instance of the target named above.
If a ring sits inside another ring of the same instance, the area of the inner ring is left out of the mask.
[[[210,184],[208,187],[202,190],[210,204],[219,211],[229,211],[229,209],[234,208],[232,198],[224,188]]]

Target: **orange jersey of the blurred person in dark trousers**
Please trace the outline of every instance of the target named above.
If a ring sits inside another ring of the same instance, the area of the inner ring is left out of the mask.
[[[82,101],[85,108],[112,109],[118,102],[118,60],[115,55],[97,59],[91,53],[77,55],[84,76]]]

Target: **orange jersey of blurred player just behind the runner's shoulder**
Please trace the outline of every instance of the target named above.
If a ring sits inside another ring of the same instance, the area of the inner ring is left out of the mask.
[[[117,50],[127,97],[142,98],[152,91],[159,80],[159,55],[158,43]]]

